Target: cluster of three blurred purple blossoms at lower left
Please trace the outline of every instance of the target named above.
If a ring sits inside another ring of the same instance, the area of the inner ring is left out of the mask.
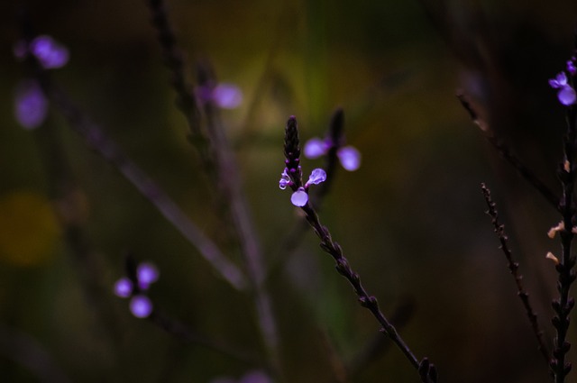
[[[114,294],[130,299],[130,311],[137,318],[146,318],[152,313],[151,299],[144,293],[159,278],[159,271],[150,262],[142,262],[136,267],[136,280],[123,277],[114,283]]]

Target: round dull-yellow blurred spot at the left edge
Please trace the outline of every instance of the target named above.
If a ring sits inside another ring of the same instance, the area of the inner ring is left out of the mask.
[[[17,190],[0,196],[0,260],[36,266],[50,260],[60,235],[46,196]]]

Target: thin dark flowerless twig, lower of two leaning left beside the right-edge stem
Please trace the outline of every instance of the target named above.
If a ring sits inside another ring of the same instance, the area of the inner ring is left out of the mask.
[[[531,328],[536,336],[539,351],[541,352],[541,355],[543,355],[543,357],[545,358],[545,362],[548,364],[551,358],[550,357],[551,354],[547,346],[545,345],[545,341],[543,339],[543,331],[541,330],[541,326],[539,325],[539,322],[537,320],[535,310],[533,310],[533,306],[529,301],[529,295],[527,294],[527,291],[523,286],[523,276],[518,272],[519,264],[513,259],[513,254],[508,248],[507,244],[508,237],[507,234],[505,233],[505,226],[502,223],[499,223],[499,214],[497,212],[497,205],[495,204],[495,202],[493,202],[490,196],[490,190],[488,187],[485,186],[485,184],[481,184],[481,190],[483,192],[483,196],[485,197],[485,202],[489,207],[487,214],[490,215],[491,221],[493,223],[493,230],[497,234],[497,237],[499,238],[500,243],[499,249],[503,251],[503,254],[505,254],[508,269],[511,272],[513,278],[515,279],[515,284],[517,286],[517,296],[519,297],[519,299],[521,299],[523,307],[525,307],[525,311],[531,324]]]

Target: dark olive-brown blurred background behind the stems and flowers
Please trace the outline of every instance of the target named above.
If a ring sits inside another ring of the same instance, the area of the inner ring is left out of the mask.
[[[209,60],[219,81],[243,92],[242,104],[222,114],[270,269],[286,381],[418,381],[394,347],[343,378],[379,326],[312,231],[285,251],[301,217],[278,187],[284,125],[294,114],[303,141],[322,137],[338,106],[362,166],[339,169],[321,220],[382,311],[408,307],[398,330],[417,358],[434,361],[443,382],[549,379],[484,214],[481,182],[499,204],[549,346],[556,276],[545,254],[560,246],[546,233],[560,217],[499,159],[455,95],[470,95],[499,137],[559,192],[564,113],[547,80],[572,55],[574,2],[167,3],[191,82],[195,63]],[[207,203],[214,190],[187,141],[146,2],[0,5],[2,380],[263,381],[246,378],[258,363],[179,342],[114,296],[130,252],[160,270],[150,289],[155,307],[197,333],[262,354],[251,297],[219,278],[50,110],[46,125],[74,174],[76,219],[96,265],[67,245],[52,209],[46,142],[14,118],[14,91],[27,76],[13,54],[22,9],[36,32],[68,48],[69,63],[51,76],[84,113],[219,244],[224,224]],[[302,163],[305,175],[323,164]],[[87,294],[87,274],[98,276],[105,315]]]

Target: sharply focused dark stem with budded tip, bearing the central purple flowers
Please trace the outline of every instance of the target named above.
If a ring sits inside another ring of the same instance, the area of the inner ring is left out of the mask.
[[[289,187],[294,192],[297,192],[299,189],[302,189],[303,182],[302,170],[300,168],[298,124],[297,119],[294,116],[291,116],[287,122],[284,152],[286,158],[285,166],[291,181]],[[398,334],[397,329],[389,322],[387,317],[382,314],[377,299],[374,296],[371,296],[362,286],[359,274],[351,268],[349,261],[343,255],[343,249],[341,246],[337,242],[333,241],[328,228],[320,222],[315,207],[311,205],[310,201],[307,201],[305,205],[301,206],[301,209],[305,213],[307,222],[313,228],[316,236],[321,240],[321,249],[334,259],[336,271],[341,274],[343,278],[346,278],[349,281],[355,294],[358,296],[359,303],[362,307],[369,310],[377,322],[379,322],[381,326],[380,332],[388,336],[389,339],[397,345],[398,349],[405,355],[411,365],[417,369],[422,382],[436,382],[435,366],[429,363],[427,359],[419,362],[413,351],[408,348],[407,343],[405,343]]]

